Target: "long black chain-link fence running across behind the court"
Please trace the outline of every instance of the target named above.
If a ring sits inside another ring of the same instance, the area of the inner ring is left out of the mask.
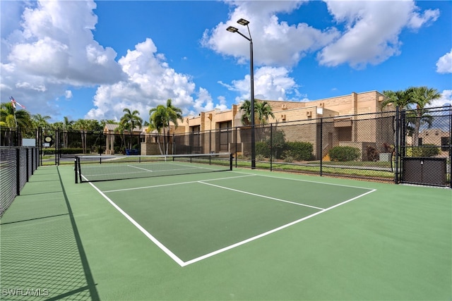
[[[451,112],[447,106],[331,116],[254,128],[205,132],[193,128],[190,133],[171,135],[144,130],[112,133],[1,129],[1,145],[35,141],[40,147],[41,164],[72,163],[71,158],[77,154],[230,152],[235,167],[451,186]]]

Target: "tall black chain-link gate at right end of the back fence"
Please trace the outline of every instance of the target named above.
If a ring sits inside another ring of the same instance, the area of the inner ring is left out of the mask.
[[[452,107],[397,111],[396,123],[396,183],[452,188]]]

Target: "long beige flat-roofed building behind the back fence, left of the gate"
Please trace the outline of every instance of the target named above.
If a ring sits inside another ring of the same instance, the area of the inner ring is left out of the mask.
[[[286,141],[311,142],[314,156],[319,159],[332,147],[352,146],[362,149],[362,159],[366,158],[367,147],[374,147],[377,152],[384,152],[383,145],[393,145],[393,118],[381,117],[384,111],[393,111],[392,106],[381,108],[383,94],[377,91],[362,92],[311,102],[284,102],[266,100],[270,104],[275,118],[273,123],[278,128],[285,125],[299,124],[297,130],[285,130]],[[198,116],[186,116],[177,128],[172,125],[171,134],[175,134],[176,152],[238,152],[246,154],[250,149],[251,131],[242,125],[240,105],[233,104],[231,109],[201,112]],[[381,114],[378,114],[381,113]],[[320,125],[322,121],[322,125]],[[239,128],[240,135],[232,128]],[[246,133],[247,132],[247,133]],[[114,125],[107,125],[107,153],[114,149],[117,130]],[[234,133],[236,133],[234,135]],[[135,130],[133,135],[141,135],[141,154],[160,154],[157,134],[147,133],[147,129]],[[169,152],[172,152],[173,136],[169,140]],[[160,136],[162,142],[162,136]]]

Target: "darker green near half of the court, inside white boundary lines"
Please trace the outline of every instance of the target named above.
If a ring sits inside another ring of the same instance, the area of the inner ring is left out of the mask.
[[[374,191],[234,171],[93,186],[181,266]]]

